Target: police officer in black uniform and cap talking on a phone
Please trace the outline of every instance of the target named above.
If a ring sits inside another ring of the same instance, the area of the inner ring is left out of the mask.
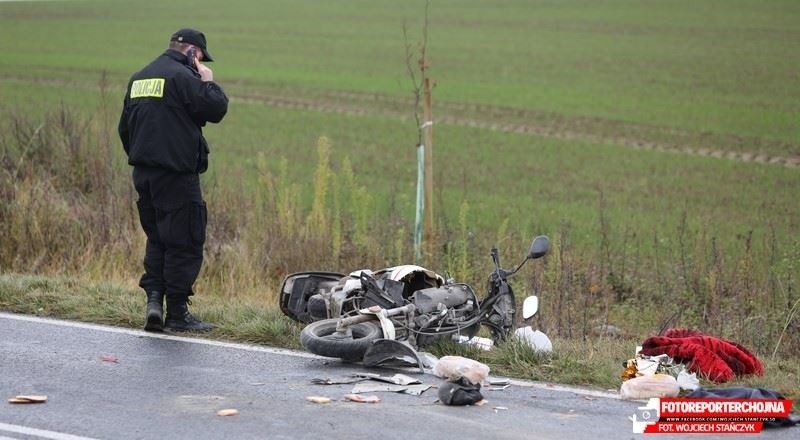
[[[228,97],[204,64],[210,61],[202,32],[175,32],[169,48],[131,77],[119,120],[147,236],[139,286],[147,295],[148,331],[214,328],[188,309],[206,237],[199,174],[208,167],[209,150],[202,128],[228,111]]]

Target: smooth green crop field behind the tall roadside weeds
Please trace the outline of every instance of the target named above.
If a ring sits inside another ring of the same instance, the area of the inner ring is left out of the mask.
[[[416,129],[402,28],[415,46],[424,6],[3,4],[3,111],[41,112],[58,102],[92,110],[102,71],[113,111],[128,75],[163,49],[173,28],[190,24],[208,34],[216,77],[234,98],[226,123],[207,130],[220,178],[246,167],[242,157],[253,152],[313,161],[312,146],[326,135],[336,156],[360,164],[363,181],[399,190],[411,213]],[[546,232],[569,221],[591,236],[602,193],[613,217],[665,236],[684,212],[690,223],[714,224],[721,237],[770,227],[796,236],[796,169],[625,146],[800,156],[798,22],[800,5],[791,1],[436,2],[435,115],[527,124],[556,136],[437,126],[442,210],[467,200],[476,221],[486,220],[481,227],[511,217]],[[308,108],[270,105],[277,99]],[[508,196],[499,207],[484,205],[498,194]]]

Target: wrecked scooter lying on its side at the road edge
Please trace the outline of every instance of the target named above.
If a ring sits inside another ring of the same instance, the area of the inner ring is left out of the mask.
[[[290,274],[281,285],[280,306],[290,318],[308,323],[300,333],[308,351],[348,361],[361,361],[381,340],[399,341],[413,351],[438,338],[471,338],[480,326],[500,341],[511,334],[516,313],[508,278],[549,247],[546,236],[536,237],[526,258],[511,271],[500,266],[492,247],[494,269],[483,299],[467,284],[404,265],[349,275]]]

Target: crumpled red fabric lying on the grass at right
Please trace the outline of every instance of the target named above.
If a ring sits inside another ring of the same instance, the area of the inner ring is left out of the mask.
[[[652,336],[642,344],[642,354],[666,354],[687,364],[691,372],[714,382],[727,382],[736,376],[764,374],[761,361],[743,346],[708,336],[697,330],[669,329],[663,336]]]

